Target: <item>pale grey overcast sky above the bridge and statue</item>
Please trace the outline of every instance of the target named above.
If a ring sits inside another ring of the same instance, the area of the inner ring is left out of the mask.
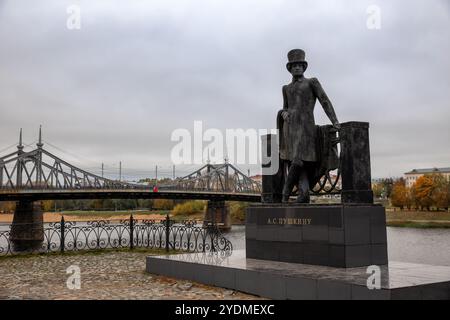
[[[194,120],[275,127],[299,47],[340,122],[370,122],[373,177],[450,167],[449,3],[0,0],[0,150],[42,124],[61,150],[46,148],[84,168],[170,173],[170,135]]]

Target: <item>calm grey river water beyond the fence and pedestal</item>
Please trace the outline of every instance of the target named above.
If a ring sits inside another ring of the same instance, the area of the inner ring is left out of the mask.
[[[0,225],[0,231],[8,228],[8,225]],[[233,243],[234,249],[245,249],[244,226],[233,226],[225,235]],[[388,227],[387,237],[391,261],[450,266],[450,229]]]

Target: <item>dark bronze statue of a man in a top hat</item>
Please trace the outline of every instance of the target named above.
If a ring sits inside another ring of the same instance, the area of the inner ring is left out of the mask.
[[[318,161],[318,133],[314,121],[316,100],[319,100],[335,130],[339,130],[340,124],[319,81],[303,75],[308,67],[305,52],[301,49],[289,51],[286,67],[292,74],[292,82],[283,86],[283,109],[277,118],[281,165],[289,168],[287,177],[283,179],[282,201],[288,202],[294,186],[297,186],[297,202],[309,203],[309,177]],[[283,171],[286,172],[285,169]]]

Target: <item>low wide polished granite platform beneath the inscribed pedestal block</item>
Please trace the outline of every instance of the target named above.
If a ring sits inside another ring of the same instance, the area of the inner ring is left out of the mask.
[[[369,289],[366,267],[334,268],[189,253],[147,257],[147,272],[238,290],[271,299],[450,299],[450,267],[390,262],[381,266],[380,288]]]

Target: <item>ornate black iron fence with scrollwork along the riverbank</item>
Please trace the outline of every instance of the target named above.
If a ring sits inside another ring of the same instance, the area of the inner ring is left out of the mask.
[[[32,227],[32,226],[30,226]],[[0,231],[0,256],[18,253],[9,230]],[[231,242],[215,225],[198,221],[101,220],[50,223],[43,228],[40,253],[119,248],[149,248],[185,252],[221,252],[230,254]]]

